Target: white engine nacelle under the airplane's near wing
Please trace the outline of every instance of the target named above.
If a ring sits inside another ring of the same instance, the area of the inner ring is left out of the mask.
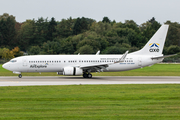
[[[63,75],[82,75],[83,70],[77,67],[65,67]]]

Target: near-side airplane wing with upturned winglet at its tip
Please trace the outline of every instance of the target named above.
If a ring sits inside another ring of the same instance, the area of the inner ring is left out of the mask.
[[[100,63],[100,64],[92,64],[92,65],[83,65],[83,66],[79,66],[81,69],[84,69],[84,70],[90,70],[90,71],[102,71],[103,69],[107,70],[107,67],[109,65],[112,65],[112,64],[116,64],[116,63],[120,63],[120,62],[124,62],[127,54],[128,54],[129,51],[126,51],[123,56],[119,59],[119,61],[116,61],[114,63]]]

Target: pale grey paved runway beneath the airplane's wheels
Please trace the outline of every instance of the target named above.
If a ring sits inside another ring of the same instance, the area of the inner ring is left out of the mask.
[[[179,76],[94,76],[78,77],[0,77],[0,86],[34,86],[34,85],[98,85],[98,84],[180,84]]]

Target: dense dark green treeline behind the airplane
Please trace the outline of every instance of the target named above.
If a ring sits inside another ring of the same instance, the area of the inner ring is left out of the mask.
[[[169,24],[164,54],[180,52],[180,24]],[[152,19],[137,25],[133,20],[124,23],[111,21],[104,17],[102,21],[90,18],[62,19],[39,18],[16,21],[13,15],[0,15],[0,48],[11,51],[18,47],[28,54],[122,54],[141,49],[161,24]],[[0,52],[1,53],[1,52]],[[21,54],[19,54],[21,55]],[[2,55],[0,55],[1,57]]]

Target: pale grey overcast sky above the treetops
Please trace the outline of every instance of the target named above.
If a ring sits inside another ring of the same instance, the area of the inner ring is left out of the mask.
[[[102,21],[125,22],[134,20],[138,25],[152,17],[165,23],[180,22],[180,0],[0,0],[0,15],[8,13],[17,22],[40,17],[57,21],[69,17],[86,17]]]

